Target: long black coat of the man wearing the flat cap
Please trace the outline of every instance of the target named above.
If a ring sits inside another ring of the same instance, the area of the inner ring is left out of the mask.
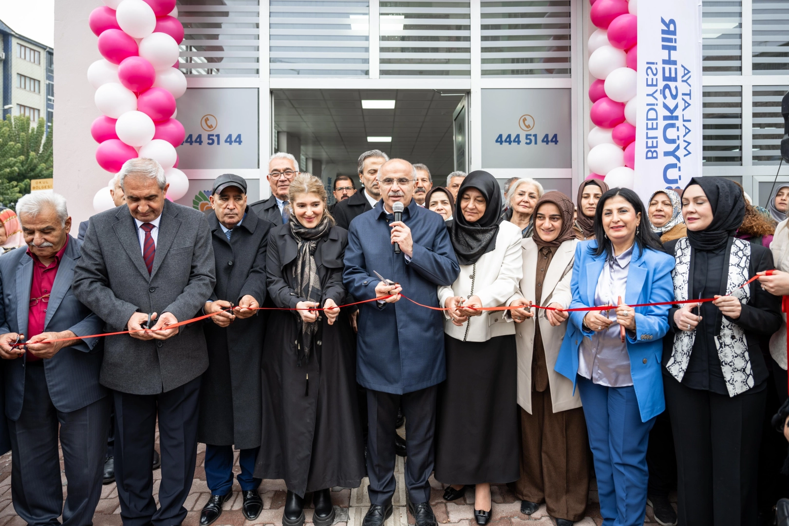
[[[216,261],[211,300],[238,304],[249,294],[266,297],[266,248],[271,223],[247,214],[227,241],[214,211],[208,215]],[[266,326],[260,311],[222,328],[204,320],[208,369],[200,386],[198,440],[239,450],[260,446],[260,360]]]

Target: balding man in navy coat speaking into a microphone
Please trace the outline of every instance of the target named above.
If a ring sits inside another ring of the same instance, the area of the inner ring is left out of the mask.
[[[357,382],[367,389],[367,471],[370,508],[363,526],[382,526],[392,514],[394,428],[398,408],[406,415],[406,494],[417,526],[436,526],[428,478],[433,469],[438,384],[447,378],[443,314],[437,287],[460,272],[441,215],[413,200],[416,170],[403,159],[378,171],[382,200],[350,224],[342,282],[360,305]],[[395,222],[394,203],[405,207]],[[394,252],[394,244],[400,252]],[[386,281],[376,277],[383,274]]]

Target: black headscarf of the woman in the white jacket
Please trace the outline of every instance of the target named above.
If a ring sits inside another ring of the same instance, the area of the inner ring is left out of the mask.
[[[485,198],[485,213],[477,222],[468,222],[463,216],[461,203],[467,188],[477,188]],[[502,198],[499,181],[490,173],[476,170],[463,179],[458,188],[458,201],[454,205],[454,224],[450,237],[458,263],[471,265],[477,263],[483,254],[495,249],[495,238],[499,234]]]

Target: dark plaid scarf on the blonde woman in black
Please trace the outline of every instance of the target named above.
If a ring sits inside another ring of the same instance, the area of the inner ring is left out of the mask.
[[[299,297],[307,301],[314,301],[320,304],[322,296],[320,290],[320,276],[318,276],[318,266],[315,263],[315,251],[318,248],[318,241],[331,228],[333,222],[329,215],[324,214],[323,218],[315,228],[307,228],[297,221],[296,215],[290,215],[290,233],[296,238],[298,252],[294,261],[293,277],[296,285],[296,293]],[[297,354],[298,366],[301,367],[302,358],[304,362],[309,361],[309,353],[312,349],[312,337],[318,332],[318,320],[312,323],[304,323],[301,315],[296,315],[299,332],[301,333],[301,347]]]

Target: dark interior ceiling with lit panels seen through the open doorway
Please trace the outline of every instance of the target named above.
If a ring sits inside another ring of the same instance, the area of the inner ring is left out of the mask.
[[[434,180],[454,170],[452,112],[462,95],[433,90],[273,90],[274,126],[301,139],[301,154],[324,170],[355,175],[361,153],[379,149],[428,166]],[[362,99],[394,99],[394,110],[362,110]],[[368,143],[391,136],[391,143]]]

